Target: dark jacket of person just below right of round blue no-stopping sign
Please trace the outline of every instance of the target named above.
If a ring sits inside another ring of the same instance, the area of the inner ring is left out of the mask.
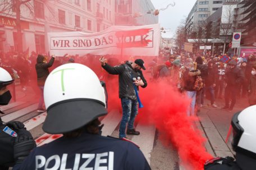
[[[243,83],[245,79],[244,72],[239,67],[234,67],[232,69],[227,69],[226,75],[226,83],[227,86],[236,86],[238,87],[239,84]]]

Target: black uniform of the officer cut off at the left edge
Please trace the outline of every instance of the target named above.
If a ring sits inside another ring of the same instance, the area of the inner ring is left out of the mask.
[[[8,169],[14,164],[13,158],[13,144],[14,137],[4,133],[3,129],[6,126],[3,125],[0,117],[0,169]]]

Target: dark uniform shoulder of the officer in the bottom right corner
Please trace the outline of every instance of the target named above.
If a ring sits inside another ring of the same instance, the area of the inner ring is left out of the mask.
[[[234,158],[214,158],[204,164],[205,170],[242,170]]]

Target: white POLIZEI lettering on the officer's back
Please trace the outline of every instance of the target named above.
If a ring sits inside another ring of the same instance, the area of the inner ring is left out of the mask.
[[[73,155],[72,157],[68,157],[68,154],[64,153],[62,156],[52,155],[47,159],[43,155],[35,156],[35,169],[113,170],[113,166],[114,152],[104,152],[97,154],[77,153],[75,154],[75,157]]]

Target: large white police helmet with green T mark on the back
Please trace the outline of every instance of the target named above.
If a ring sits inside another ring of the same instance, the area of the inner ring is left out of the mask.
[[[44,84],[47,117],[43,130],[67,133],[106,115],[104,88],[97,75],[82,64],[63,64],[54,69]]]

